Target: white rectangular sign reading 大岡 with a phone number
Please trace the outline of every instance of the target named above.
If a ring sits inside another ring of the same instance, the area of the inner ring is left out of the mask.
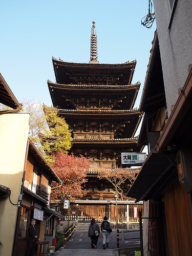
[[[146,153],[121,153],[121,163],[129,165],[142,165],[146,159]]]

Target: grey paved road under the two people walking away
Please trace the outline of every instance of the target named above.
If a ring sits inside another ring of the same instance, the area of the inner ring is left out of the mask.
[[[126,231],[126,230],[123,230]],[[127,238],[134,238],[126,240]],[[140,246],[139,231],[136,232],[123,232],[119,233],[119,247],[136,247]],[[122,240],[123,239],[123,240]],[[115,249],[117,248],[117,233],[113,231],[110,234],[109,248],[103,250],[102,246],[102,233],[98,239],[97,248],[91,249],[91,239],[88,238],[88,232],[75,232],[71,237],[70,242],[65,248],[61,248],[59,251],[54,253],[54,256],[97,256],[106,255],[114,256],[118,255]]]

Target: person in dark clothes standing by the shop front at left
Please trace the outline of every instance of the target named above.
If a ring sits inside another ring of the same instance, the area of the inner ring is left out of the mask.
[[[25,256],[32,256],[35,251],[35,243],[37,238],[37,233],[35,230],[36,220],[31,220],[31,225],[29,226],[29,237],[28,237],[28,247]]]

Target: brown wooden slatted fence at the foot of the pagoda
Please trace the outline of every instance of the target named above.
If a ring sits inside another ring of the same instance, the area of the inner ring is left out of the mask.
[[[90,222],[95,219],[102,222],[104,216],[108,216],[110,221],[120,222],[139,222],[139,211],[143,216],[143,204],[106,204],[106,205],[90,205],[90,204],[71,204],[70,221]],[[117,216],[117,217],[116,217]],[[68,216],[66,216],[68,219]]]

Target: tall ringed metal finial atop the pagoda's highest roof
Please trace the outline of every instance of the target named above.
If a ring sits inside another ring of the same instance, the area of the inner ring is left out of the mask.
[[[93,27],[91,29],[91,51],[90,51],[90,62],[97,64],[99,61],[97,61],[97,35],[96,35],[96,29],[95,29],[95,22],[93,22]]]

